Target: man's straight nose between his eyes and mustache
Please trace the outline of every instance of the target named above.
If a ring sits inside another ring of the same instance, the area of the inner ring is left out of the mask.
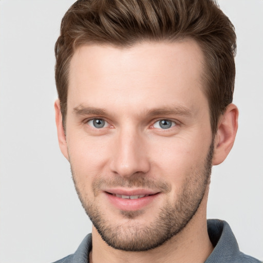
[[[145,174],[150,169],[147,147],[143,135],[136,130],[120,131],[111,156],[111,172],[122,177]]]

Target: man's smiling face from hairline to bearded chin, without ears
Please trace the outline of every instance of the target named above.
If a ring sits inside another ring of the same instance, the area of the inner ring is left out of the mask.
[[[63,153],[111,247],[158,247],[198,210],[213,156],[202,61],[194,41],[83,46],[73,55]]]

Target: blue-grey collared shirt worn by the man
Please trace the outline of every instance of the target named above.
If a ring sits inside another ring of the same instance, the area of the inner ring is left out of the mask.
[[[226,221],[209,219],[208,234],[214,250],[204,263],[262,263],[239,251],[236,238]],[[88,234],[74,254],[54,263],[88,263],[91,248],[92,236]]]

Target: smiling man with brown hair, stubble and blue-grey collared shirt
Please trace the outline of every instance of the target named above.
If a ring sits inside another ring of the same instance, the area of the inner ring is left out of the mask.
[[[58,262],[259,262],[206,221],[237,132],[235,32],[213,1],[78,1],[56,43],[60,148],[92,237]]]

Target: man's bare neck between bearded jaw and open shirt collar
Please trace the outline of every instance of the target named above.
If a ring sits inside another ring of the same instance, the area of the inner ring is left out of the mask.
[[[206,199],[205,197],[203,199]],[[203,263],[213,251],[206,226],[206,200],[203,200],[195,216],[177,235],[162,246],[149,251],[130,252],[109,247],[97,230],[92,228],[92,263]]]

